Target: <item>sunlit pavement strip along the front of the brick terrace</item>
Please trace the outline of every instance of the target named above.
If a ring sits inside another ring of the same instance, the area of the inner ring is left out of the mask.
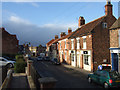
[[[73,70],[76,70],[78,72],[81,72],[81,73],[84,73],[86,75],[88,75],[89,73],[92,73],[91,71],[86,71],[84,69],[81,69],[81,68],[78,68],[78,67],[74,67],[74,66],[71,66],[71,65],[68,65],[68,64],[64,64],[62,63],[62,65],[66,68],[69,68],[69,69],[73,69]]]

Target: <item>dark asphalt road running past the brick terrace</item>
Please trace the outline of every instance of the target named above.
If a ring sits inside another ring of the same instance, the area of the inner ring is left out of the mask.
[[[94,83],[88,83],[87,74],[63,65],[53,65],[49,61],[35,61],[33,65],[39,74],[58,80],[55,88],[102,88]]]

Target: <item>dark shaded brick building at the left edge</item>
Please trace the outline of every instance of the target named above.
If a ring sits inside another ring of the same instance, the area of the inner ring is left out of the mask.
[[[5,28],[0,28],[0,35],[2,35],[2,54],[17,54],[18,53],[18,43],[16,35],[8,33]]]

